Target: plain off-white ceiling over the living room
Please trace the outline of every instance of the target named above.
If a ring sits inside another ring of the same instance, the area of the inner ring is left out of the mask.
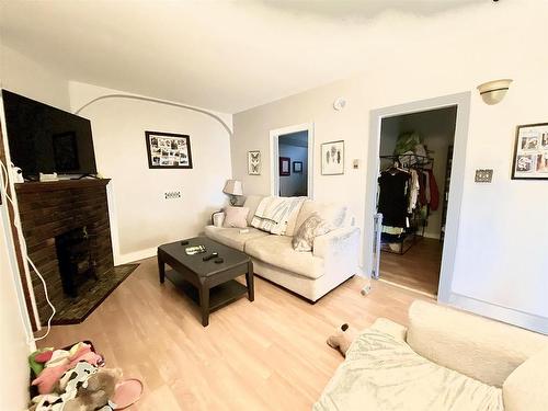
[[[375,47],[418,47],[429,22],[487,5],[2,1],[0,34],[5,46],[68,80],[236,113],[362,71]]]

